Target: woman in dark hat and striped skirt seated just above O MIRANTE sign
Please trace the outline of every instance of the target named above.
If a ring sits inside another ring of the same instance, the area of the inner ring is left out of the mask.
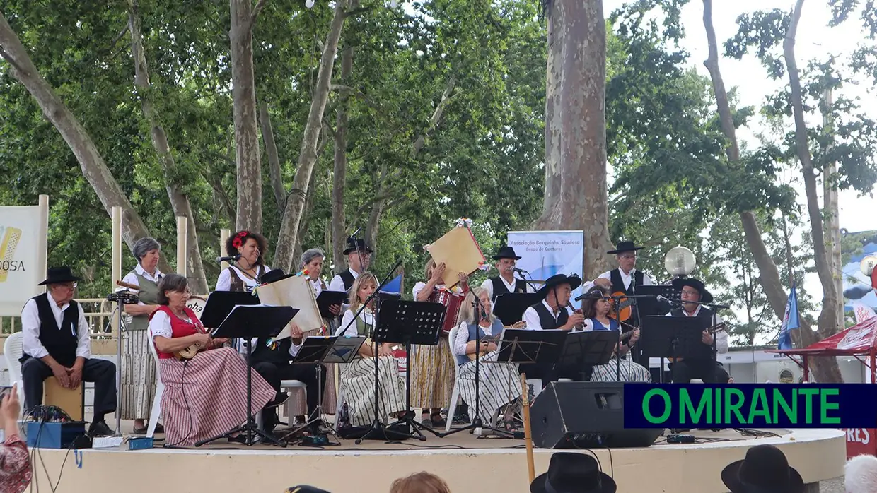
[[[614,330],[619,333],[619,337],[625,335],[620,334],[620,324],[618,320],[611,319],[609,316],[610,302],[609,290],[598,285],[591,288],[581,302],[581,313],[585,317],[583,325],[584,330]],[[633,363],[628,359],[631,352],[631,346],[639,340],[639,329],[633,329],[630,338],[626,341],[622,340],[620,357],[614,355],[609,363],[595,365],[591,372],[592,382],[616,382],[621,378],[622,382],[651,382],[652,374],[646,370],[644,366]],[[617,349],[616,349],[617,350]],[[616,366],[618,362],[618,366]],[[620,367],[621,370],[618,370]]]

